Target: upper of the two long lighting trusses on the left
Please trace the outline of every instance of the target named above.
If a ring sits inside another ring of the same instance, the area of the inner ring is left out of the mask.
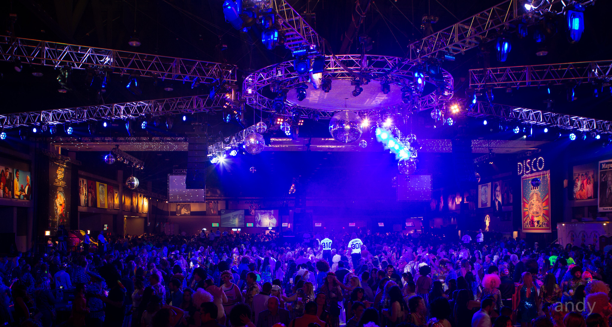
[[[236,66],[146,53],[84,47],[43,40],[0,36],[0,60],[73,69],[102,67],[114,73],[139,73],[141,76],[169,80],[236,81]]]

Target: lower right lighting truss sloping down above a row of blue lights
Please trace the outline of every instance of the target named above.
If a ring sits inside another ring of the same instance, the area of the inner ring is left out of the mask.
[[[496,116],[507,120],[518,120],[527,124],[546,125],[566,130],[580,130],[581,132],[591,131],[612,134],[611,121],[528,108],[517,108],[496,103],[479,101],[466,115],[473,117]]]

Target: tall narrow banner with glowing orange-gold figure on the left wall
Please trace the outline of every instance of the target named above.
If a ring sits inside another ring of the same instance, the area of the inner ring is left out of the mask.
[[[51,235],[59,225],[70,228],[70,164],[49,162],[49,223]]]

